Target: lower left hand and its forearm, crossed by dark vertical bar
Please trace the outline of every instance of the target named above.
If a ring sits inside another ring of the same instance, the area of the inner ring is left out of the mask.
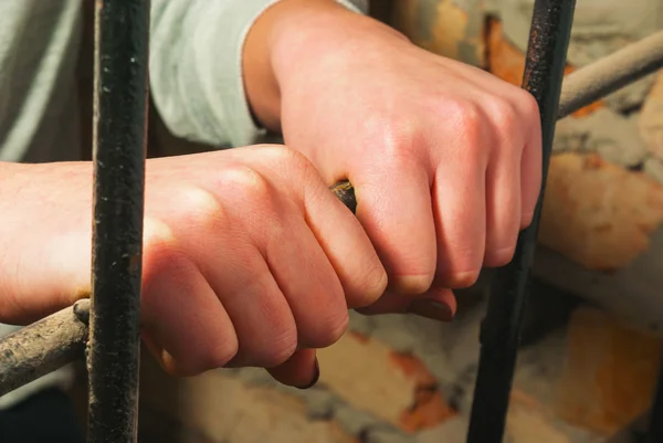
[[[90,293],[92,165],[7,165],[0,321],[31,321]],[[315,349],[387,277],[357,219],[280,146],[147,161],[141,320],[164,367],[269,368],[315,378]]]

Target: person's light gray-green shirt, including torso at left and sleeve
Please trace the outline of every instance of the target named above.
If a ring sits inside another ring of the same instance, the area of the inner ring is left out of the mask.
[[[176,136],[244,146],[262,136],[242,83],[242,45],[277,0],[151,0],[150,88]],[[367,0],[336,0],[366,13]],[[0,161],[78,160],[76,62],[83,0],[0,1]],[[0,336],[17,327],[0,324]],[[0,397],[0,409],[44,386],[67,386],[71,368]]]

